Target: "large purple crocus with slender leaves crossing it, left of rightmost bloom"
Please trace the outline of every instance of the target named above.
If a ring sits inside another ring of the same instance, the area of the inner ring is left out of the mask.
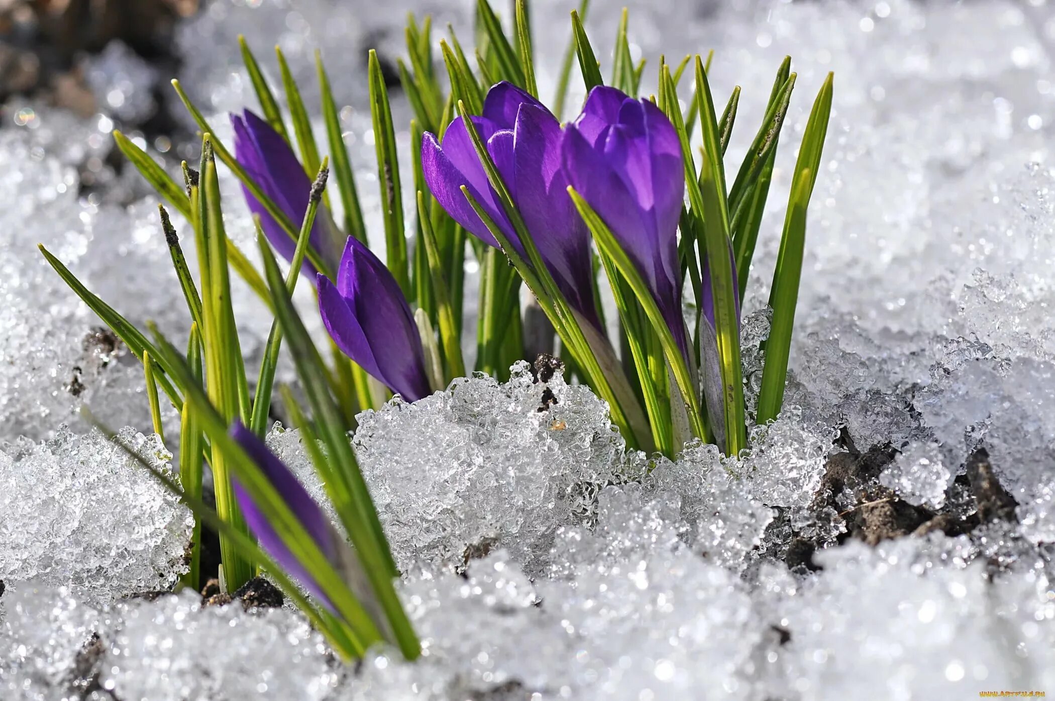
[[[560,291],[573,308],[599,327],[590,232],[568,195],[568,178],[560,168],[560,122],[537,99],[503,81],[487,92],[483,115],[473,117],[473,124]],[[464,185],[523,255],[461,117],[447,127],[442,144],[433,134],[425,134],[421,163],[428,189],[456,222],[485,244],[498,245],[462,193]]]

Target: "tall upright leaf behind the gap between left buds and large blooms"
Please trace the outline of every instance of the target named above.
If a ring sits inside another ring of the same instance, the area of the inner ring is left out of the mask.
[[[381,207],[385,224],[385,264],[400,289],[407,297],[414,293],[407,274],[406,231],[403,228],[403,194],[399,178],[399,153],[396,129],[388,105],[388,89],[381,74],[378,53],[370,50],[370,114],[373,117],[373,141],[378,154],[378,183],[381,186]]]

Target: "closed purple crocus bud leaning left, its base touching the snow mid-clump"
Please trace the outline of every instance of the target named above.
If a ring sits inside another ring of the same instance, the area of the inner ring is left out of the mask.
[[[425,354],[410,307],[378,257],[348,236],[334,285],[320,274],[319,311],[342,352],[407,401],[429,394]]]

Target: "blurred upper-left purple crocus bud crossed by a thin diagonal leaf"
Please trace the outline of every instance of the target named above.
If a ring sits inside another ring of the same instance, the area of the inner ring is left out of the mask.
[[[293,225],[300,227],[311,194],[311,181],[304,172],[304,166],[286,139],[251,111],[246,110],[241,116],[232,114],[231,124],[234,126],[235,159],[264,193],[289,216]],[[261,228],[267,240],[280,255],[287,261],[292,260],[296,242],[279,226],[249,188],[243,185],[242,191],[246,195],[249,210],[260,215]],[[319,251],[331,268],[335,268],[341,260],[343,238],[330,219],[329,211],[325,206],[320,206],[309,241],[311,247]],[[307,258],[304,259],[303,270],[307,274],[315,272]]]

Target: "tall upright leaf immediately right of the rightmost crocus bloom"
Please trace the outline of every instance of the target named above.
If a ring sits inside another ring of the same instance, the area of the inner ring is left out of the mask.
[[[671,87],[671,90],[673,88]],[[736,455],[747,447],[744,423],[744,383],[740,360],[740,317],[736,286],[730,259],[729,210],[726,202],[725,169],[717,130],[714,102],[703,60],[696,56],[696,95],[704,141],[701,168],[699,202],[693,203],[696,215],[703,215],[703,244],[711,278],[714,303],[714,333],[722,365],[723,405],[725,408],[726,452]],[[687,160],[691,165],[691,160]],[[690,176],[691,177],[691,176]],[[691,188],[690,188],[691,190]],[[704,251],[701,251],[703,258]]]

